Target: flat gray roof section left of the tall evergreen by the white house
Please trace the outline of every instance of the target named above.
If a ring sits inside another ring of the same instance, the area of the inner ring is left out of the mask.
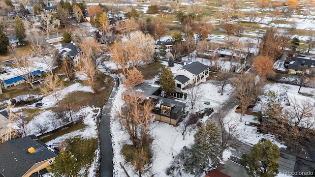
[[[132,89],[129,89],[128,91],[126,91],[126,95],[133,94],[132,91],[134,91],[138,97],[141,97],[142,99],[146,99],[147,97],[152,95],[154,92],[156,92],[159,88],[160,86],[158,85],[141,83],[139,85],[134,86]]]

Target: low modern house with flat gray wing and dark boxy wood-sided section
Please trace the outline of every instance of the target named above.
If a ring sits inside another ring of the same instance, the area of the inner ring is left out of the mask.
[[[155,120],[176,126],[183,117],[186,102],[161,97],[160,93],[160,86],[142,83],[122,93],[122,99],[125,100],[128,95],[135,94],[144,100],[151,100],[155,102]]]

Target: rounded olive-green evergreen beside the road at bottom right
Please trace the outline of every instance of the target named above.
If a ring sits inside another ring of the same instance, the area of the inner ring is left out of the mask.
[[[275,177],[279,171],[280,150],[270,140],[261,139],[251,149],[250,154],[243,154],[241,164],[252,177]]]

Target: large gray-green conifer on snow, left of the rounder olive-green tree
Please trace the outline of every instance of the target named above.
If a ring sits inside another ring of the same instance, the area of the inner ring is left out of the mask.
[[[221,161],[219,154],[221,154],[221,135],[217,122],[212,120],[207,125],[201,124],[185,158],[184,170],[199,177],[219,166]]]

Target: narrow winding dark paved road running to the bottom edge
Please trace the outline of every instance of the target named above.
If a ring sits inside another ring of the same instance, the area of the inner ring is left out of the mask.
[[[119,79],[117,76],[109,74],[105,69],[100,68],[101,72],[114,78],[115,86],[112,93],[103,107],[102,118],[99,121],[98,131],[100,138],[100,177],[113,177],[113,147],[110,133],[110,113],[112,103],[119,86]]]

